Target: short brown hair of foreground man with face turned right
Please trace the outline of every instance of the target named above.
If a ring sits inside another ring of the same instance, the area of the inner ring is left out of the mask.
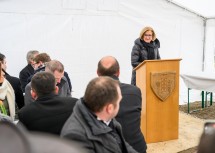
[[[110,77],[97,77],[87,85],[84,101],[92,112],[100,112],[109,103],[116,105],[119,97],[117,88],[118,81]]]

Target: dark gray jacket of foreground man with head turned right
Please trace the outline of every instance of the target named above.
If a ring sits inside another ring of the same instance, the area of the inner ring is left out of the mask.
[[[122,146],[126,150],[123,153],[137,153],[124,141],[121,126],[115,119],[113,125],[122,138]],[[96,119],[80,99],[74,107],[73,114],[66,121],[61,136],[79,142],[89,153],[122,153],[110,134],[111,131],[110,127]]]

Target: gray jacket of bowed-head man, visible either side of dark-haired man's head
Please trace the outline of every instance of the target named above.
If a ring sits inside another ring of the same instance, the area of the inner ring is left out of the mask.
[[[61,96],[61,97],[70,97],[71,96],[69,84],[65,77],[61,78],[61,83],[58,87],[59,87],[59,91],[58,91],[59,96]],[[28,105],[34,101],[34,99],[31,97],[31,82],[29,82],[25,87],[24,98],[25,98],[25,105]]]

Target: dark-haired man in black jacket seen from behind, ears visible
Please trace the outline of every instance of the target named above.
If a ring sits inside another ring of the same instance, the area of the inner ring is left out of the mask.
[[[32,77],[31,88],[35,101],[18,112],[20,122],[32,131],[60,134],[77,99],[59,97],[56,79],[49,72],[36,73]]]

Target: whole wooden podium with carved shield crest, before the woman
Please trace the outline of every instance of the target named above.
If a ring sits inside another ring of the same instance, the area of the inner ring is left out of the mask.
[[[147,143],[178,138],[180,60],[145,60],[135,68],[142,92],[141,130]]]

